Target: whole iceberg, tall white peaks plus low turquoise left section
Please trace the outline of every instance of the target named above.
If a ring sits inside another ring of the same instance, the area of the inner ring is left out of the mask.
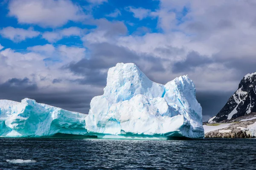
[[[202,108],[189,77],[180,76],[161,85],[133,63],[118,63],[109,69],[104,94],[93,97],[88,115],[33,99],[0,100],[0,136],[56,135],[202,139]]]

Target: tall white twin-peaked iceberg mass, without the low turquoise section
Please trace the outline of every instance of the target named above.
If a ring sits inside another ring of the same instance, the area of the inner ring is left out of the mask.
[[[161,85],[133,63],[109,69],[104,94],[91,100],[85,122],[102,138],[204,138],[192,80],[181,76]]]

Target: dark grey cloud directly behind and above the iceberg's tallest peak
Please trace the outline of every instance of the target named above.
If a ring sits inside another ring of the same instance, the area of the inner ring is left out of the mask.
[[[64,67],[75,74],[83,75],[83,79],[76,80],[81,84],[105,86],[107,73],[102,73],[101,70],[111,68],[118,62],[133,62],[145,72],[165,71],[162,65],[163,59],[157,59],[148,55],[139,55],[122,46],[103,42],[91,44],[89,47],[91,50],[90,59],[84,58],[79,62],[71,62]],[[151,67],[143,70],[143,61],[150,62]]]

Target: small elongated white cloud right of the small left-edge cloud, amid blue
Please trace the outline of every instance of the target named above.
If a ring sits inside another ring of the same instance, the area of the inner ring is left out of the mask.
[[[48,42],[56,42],[58,40],[61,40],[64,37],[81,37],[85,33],[85,29],[81,29],[78,27],[70,27],[70,28],[64,28],[62,30],[57,30],[53,32],[44,32],[42,37],[46,39]]]

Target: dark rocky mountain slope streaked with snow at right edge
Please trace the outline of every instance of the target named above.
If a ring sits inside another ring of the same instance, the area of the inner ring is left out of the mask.
[[[238,90],[228,99],[226,105],[208,123],[236,119],[256,112],[256,73],[247,74],[239,83]]]

